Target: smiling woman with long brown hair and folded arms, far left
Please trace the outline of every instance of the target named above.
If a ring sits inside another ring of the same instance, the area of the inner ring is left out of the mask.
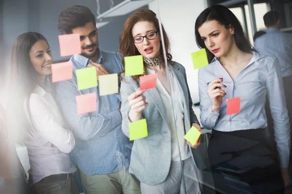
[[[17,37],[11,55],[8,129],[27,147],[31,194],[78,194],[76,167],[68,156],[75,140],[51,95],[52,63],[43,35],[26,32]]]

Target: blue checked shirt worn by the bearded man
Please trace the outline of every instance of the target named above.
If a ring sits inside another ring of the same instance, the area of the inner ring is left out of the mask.
[[[128,168],[133,142],[121,128],[120,95],[99,96],[98,86],[78,90],[75,71],[86,68],[92,61],[78,54],[70,60],[73,62],[73,78],[58,82],[56,92],[75,137],[77,167],[90,176],[116,172],[122,170],[123,165]],[[112,51],[99,51],[96,63],[104,65],[110,74],[119,74],[124,69],[122,56]],[[93,92],[97,96],[97,110],[77,114],[75,97]]]

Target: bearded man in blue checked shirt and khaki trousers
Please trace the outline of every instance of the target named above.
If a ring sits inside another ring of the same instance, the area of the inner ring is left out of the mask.
[[[97,79],[123,70],[118,53],[98,48],[95,25],[95,16],[85,6],[74,5],[61,12],[58,30],[80,34],[81,54],[70,59],[73,79],[56,84],[57,97],[76,139],[78,174],[87,194],[141,194],[139,180],[128,173],[133,143],[121,128],[120,95],[100,96],[99,86],[77,89],[77,69],[95,67]],[[89,93],[96,93],[97,110],[77,114],[76,96]]]

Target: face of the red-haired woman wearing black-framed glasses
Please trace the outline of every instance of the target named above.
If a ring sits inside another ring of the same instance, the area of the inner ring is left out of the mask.
[[[132,36],[137,39],[137,36],[146,36],[149,39],[155,37],[157,29],[154,24],[149,21],[139,21],[132,28]],[[143,39],[143,37],[138,37]],[[139,40],[139,39],[138,39]],[[152,40],[148,40],[144,37],[144,40],[141,43],[134,43],[140,54],[146,58],[156,58],[160,56],[160,33],[157,32],[157,36]]]

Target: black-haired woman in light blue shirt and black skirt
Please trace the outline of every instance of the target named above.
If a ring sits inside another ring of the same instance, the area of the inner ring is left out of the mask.
[[[227,193],[283,192],[283,180],[286,187],[290,183],[290,124],[278,61],[256,53],[224,6],[205,9],[195,33],[210,62],[199,70],[199,95],[201,124],[213,129],[208,155],[215,186]],[[266,95],[280,164],[263,133]],[[228,106],[235,105],[226,99],[234,97],[240,97],[240,113],[227,115]]]

